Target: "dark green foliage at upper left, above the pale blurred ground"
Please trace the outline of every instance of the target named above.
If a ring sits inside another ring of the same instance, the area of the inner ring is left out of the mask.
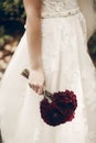
[[[24,32],[25,12],[22,0],[0,1],[0,48]]]

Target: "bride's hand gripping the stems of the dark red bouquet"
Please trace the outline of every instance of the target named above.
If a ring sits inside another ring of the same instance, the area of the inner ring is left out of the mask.
[[[43,68],[30,69],[29,75],[29,86],[39,95],[42,95],[42,91],[45,86],[45,78]]]

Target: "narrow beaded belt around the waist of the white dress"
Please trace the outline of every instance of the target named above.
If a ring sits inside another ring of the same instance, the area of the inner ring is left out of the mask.
[[[77,9],[74,9],[74,10],[68,10],[66,12],[50,12],[50,13],[45,13],[45,12],[42,12],[42,15],[41,18],[42,19],[49,19],[49,18],[60,18],[60,16],[70,16],[70,15],[75,15],[79,12],[79,8]]]

